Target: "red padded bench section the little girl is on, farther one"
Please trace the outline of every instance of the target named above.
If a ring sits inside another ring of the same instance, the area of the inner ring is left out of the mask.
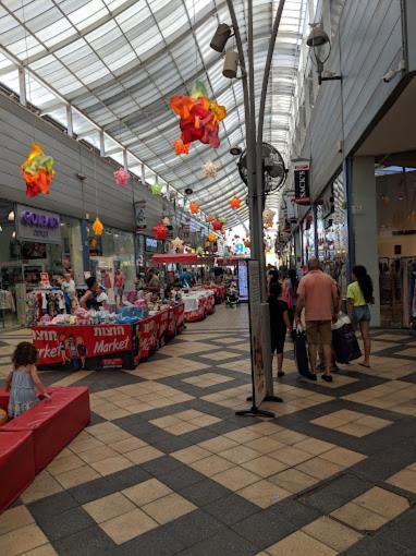
[[[50,387],[50,399],[40,401],[0,427],[8,432],[32,431],[35,471],[41,471],[89,423],[89,394],[85,386]]]

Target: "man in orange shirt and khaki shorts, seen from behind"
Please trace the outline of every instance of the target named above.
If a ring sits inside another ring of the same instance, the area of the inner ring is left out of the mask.
[[[301,324],[302,310],[305,307],[306,337],[309,349],[309,363],[313,378],[316,380],[316,358],[321,345],[325,356],[323,380],[332,382],[331,375],[331,322],[337,321],[338,293],[334,280],[320,269],[319,261],[308,262],[308,274],[297,287],[296,322]]]

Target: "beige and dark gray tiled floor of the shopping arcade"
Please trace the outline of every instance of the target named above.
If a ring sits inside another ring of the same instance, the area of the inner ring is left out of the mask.
[[[4,338],[3,338],[4,336]],[[24,330],[2,335],[0,377]],[[0,516],[0,554],[406,556],[416,543],[416,339],[375,331],[370,370],[301,379],[286,345],[272,420],[238,418],[246,309],[219,307],[90,387],[93,422]]]

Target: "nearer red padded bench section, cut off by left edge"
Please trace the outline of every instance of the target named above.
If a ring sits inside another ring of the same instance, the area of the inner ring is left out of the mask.
[[[34,442],[30,431],[0,434],[0,478],[1,513],[35,479]]]

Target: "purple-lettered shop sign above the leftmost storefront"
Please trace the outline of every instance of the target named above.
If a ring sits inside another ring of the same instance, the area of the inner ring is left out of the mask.
[[[36,243],[61,243],[61,217],[38,208],[17,205],[17,239]]]

